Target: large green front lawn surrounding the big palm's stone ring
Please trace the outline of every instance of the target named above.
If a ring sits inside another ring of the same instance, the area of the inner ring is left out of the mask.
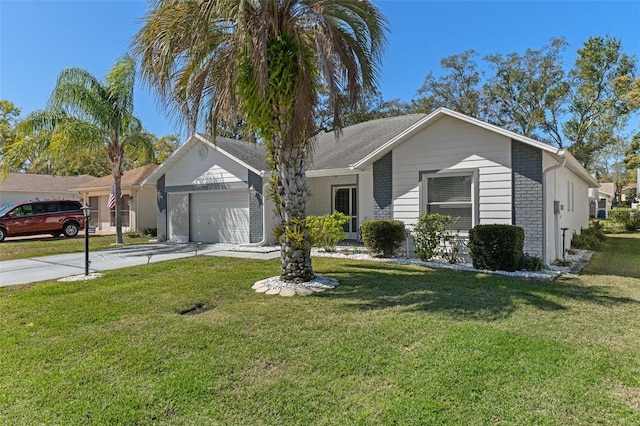
[[[0,289],[0,424],[640,423],[637,262],[557,282],[314,266],[341,285],[257,294],[278,261],[205,256]]]

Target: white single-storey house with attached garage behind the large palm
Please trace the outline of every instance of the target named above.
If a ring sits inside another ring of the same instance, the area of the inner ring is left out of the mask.
[[[157,188],[159,239],[272,241],[264,158],[259,145],[190,137],[143,183]],[[411,227],[442,213],[460,217],[463,235],[478,224],[522,226],[525,251],[546,263],[562,257],[562,228],[569,247],[588,226],[588,189],[598,187],[568,151],[444,108],[318,135],[307,177],[307,213],[347,214],[351,238],[366,220]]]

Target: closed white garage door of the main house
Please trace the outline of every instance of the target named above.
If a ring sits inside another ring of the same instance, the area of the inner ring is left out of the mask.
[[[192,193],[189,211],[191,241],[249,242],[249,193],[246,190]]]

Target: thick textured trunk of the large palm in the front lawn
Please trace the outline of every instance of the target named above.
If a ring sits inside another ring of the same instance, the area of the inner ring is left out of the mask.
[[[307,148],[305,143],[283,146],[274,141],[274,195],[276,214],[280,216],[280,278],[296,283],[314,278],[311,266],[311,242],[306,225]]]

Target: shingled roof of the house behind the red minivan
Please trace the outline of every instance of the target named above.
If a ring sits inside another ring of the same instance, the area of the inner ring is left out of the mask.
[[[95,180],[95,176],[52,176],[33,173],[9,173],[0,182],[2,192],[72,192],[78,185]]]

